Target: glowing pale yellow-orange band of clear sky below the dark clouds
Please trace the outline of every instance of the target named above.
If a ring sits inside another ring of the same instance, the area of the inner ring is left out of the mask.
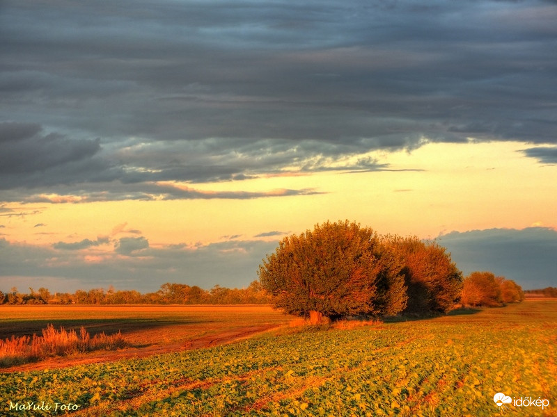
[[[58,204],[17,204],[16,212],[31,214],[5,219],[3,234],[11,242],[33,245],[145,236],[156,246],[206,245],[235,235],[252,239],[275,230],[299,233],[317,222],[346,218],[380,233],[421,238],[490,227],[557,227],[557,182],[547,180],[557,178],[557,167],[524,158],[522,147],[515,142],[430,144],[411,153],[385,154],[389,171],[277,175],[188,186],[206,194],[228,190],[272,195],[283,188],[313,188],[319,192],[313,195],[82,204],[65,196]]]

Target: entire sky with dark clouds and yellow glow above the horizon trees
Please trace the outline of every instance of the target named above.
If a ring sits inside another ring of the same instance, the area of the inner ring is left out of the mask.
[[[557,286],[554,1],[0,1],[0,291],[242,288],[327,220]]]

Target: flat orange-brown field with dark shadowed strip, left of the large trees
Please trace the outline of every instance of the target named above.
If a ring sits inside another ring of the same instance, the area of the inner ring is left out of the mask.
[[[13,368],[42,369],[219,345],[289,320],[270,306],[0,306],[0,339],[40,335],[49,324],[76,332],[83,325],[91,335],[120,331],[131,345],[118,352],[88,352]]]

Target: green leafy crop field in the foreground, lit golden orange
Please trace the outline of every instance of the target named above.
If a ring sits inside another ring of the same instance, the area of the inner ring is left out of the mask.
[[[269,320],[288,318],[269,311]],[[556,301],[352,329],[285,327],[207,349],[3,372],[0,414],[557,416],[556,350]],[[514,401],[506,409],[493,400],[500,392]],[[548,405],[517,405],[525,398]],[[36,409],[22,407],[29,402]]]

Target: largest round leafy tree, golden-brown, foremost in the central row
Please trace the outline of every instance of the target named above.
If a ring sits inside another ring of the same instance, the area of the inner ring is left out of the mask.
[[[276,307],[315,322],[322,316],[395,314],[406,306],[395,256],[372,229],[347,220],[283,238],[258,273]]]

